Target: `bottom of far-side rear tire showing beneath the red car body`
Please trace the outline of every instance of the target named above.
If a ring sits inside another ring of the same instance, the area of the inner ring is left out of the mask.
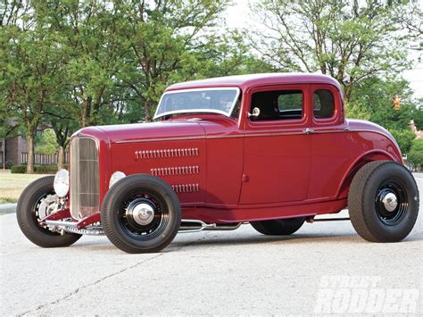
[[[268,236],[287,236],[303,226],[304,217],[280,219],[273,221],[253,221],[250,222],[254,229]]]

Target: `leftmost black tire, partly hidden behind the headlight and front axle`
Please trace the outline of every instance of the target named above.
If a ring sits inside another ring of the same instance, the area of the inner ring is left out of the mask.
[[[38,207],[46,196],[54,195],[53,181],[54,176],[46,176],[30,183],[18,200],[16,217],[22,233],[37,246],[71,246],[81,235],[70,232],[61,235],[38,224]]]

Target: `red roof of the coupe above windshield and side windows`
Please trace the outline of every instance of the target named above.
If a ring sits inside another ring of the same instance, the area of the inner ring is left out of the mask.
[[[166,90],[178,90],[188,88],[204,88],[204,87],[239,87],[245,90],[261,85],[278,85],[278,84],[299,84],[299,83],[320,83],[333,85],[339,90],[341,87],[336,79],[327,75],[315,73],[262,73],[251,75],[238,75],[228,77],[217,77],[212,79],[201,79],[181,82],[170,86]]]

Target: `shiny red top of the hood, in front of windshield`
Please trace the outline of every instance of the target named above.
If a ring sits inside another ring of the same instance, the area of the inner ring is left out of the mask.
[[[98,126],[96,129],[104,131],[111,143],[205,138],[201,124],[190,120]]]

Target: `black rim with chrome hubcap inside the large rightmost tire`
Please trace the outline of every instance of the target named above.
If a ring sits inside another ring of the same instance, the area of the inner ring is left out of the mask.
[[[380,221],[394,226],[402,221],[409,208],[407,192],[402,185],[386,181],[377,189],[375,208]]]

